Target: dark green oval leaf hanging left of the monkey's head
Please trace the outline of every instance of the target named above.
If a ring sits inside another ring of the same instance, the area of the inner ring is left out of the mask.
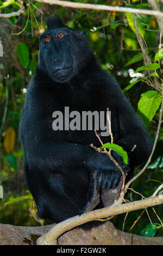
[[[29,48],[24,42],[20,42],[17,46],[17,56],[24,68],[29,65]]]

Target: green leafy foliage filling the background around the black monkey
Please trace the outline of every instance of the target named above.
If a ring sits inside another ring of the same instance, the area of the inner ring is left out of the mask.
[[[80,1],[74,1],[80,2]],[[84,1],[95,3],[95,1]],[[121,5],[131,8],[149,8],[147,1],[98,0],[96,4]],[[114,76],[120,83],[123,92],[129,98],[134,109],[144,121],[151,138],[154,141],[159,118],[161,90],[156,87],[155,78],[162,78],[162,49],[159,48],[159,27],[153,16],[136,14],[137,27],[148,46],[148,55],[151,64],[145,65],[143,54],[137,41],[133,15],[126,13],[108,13],[101,10],[68,9],[59,6],[24,1],[26,11],[22,16],[10,17],[8,20],[13,26],[11,39],[18,38],[17,61],[13,64],[9,75],[0,81],[0,131],[1,127],[1,166],[0,185],[3,185],[4,198],[0,199],[1,223],[15,225],[39,225],[42,222],[36,217],[36,206],[27,191],[23,174],[23,151],[18,139],[18,122],[26,95],[27,85],[34,75],[39,53],[39,35],[46,30],[46,17],[59,15],[67,26],[79,31],[85,30],[93,51],[96,52],[102,67]],[[0,1],[1,13],[11,13],[20,9],[20,3],[15,0]],[[1,22],[1,20],[0,20]],[[1,32],[0,32],[1,34]],[[141,73],[140,73],[141,72]],[[154,87],[156,87],[156,89]],[[8,96],[7,96],[8,95]],[[8,100],[7,100],[8,98]],[[4,118],[5,109],[7,115]],[[134,181],[132,188],[143,194],[151,196],[163,180],[162,156],[163,129],[161,128],[159,142],[152,161],[140,179]],[[105,145],[105,147],[114,145]],[[116,151],[117,145],[115,145]],[[113,148],[112,148],[113,149]],[[127,162],[128,156],[121,149],[118,151]],[[140,167],[136,168],[139,172]],[[128,193],[129,200],[140,199],[133,191]],[[4,208],[5,206],[5,208]],[[162,206],[155,210],[160,218]],[[143,214],[138,224],[131,230],[135,234],[159,236],[163,235],[158,218],[149,209],[153,225],[148,215]],[[128,231],[140,211],[128,214],[125,231]],[[116,227],[122,229],[125,215],[112,218]]]

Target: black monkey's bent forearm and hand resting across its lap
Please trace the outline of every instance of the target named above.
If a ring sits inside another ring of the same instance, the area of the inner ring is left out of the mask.
[[[21,142],[30,169],[67,173],[84,167],[86,172],[98,173],[99,184],[117,185],[121,172],[108,155],[98,153],[90,145],[49,140],[43,122],[38,125],[35,120],[22,115],[20,125]],[[120,155],[114,153],[114,156],[122,168],[128,168]]]

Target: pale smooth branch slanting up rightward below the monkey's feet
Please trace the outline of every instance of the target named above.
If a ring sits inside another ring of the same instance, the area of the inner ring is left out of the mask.
[[[68,218],[55,225],[46,235],[39,237],[37,245],[57,245],[58,237],[78,225],[82,225],[86,222],[94,221],[99,218],[105,218],[112,215],[122,214],[124,212],[135,211],[139,209],[145,209],[150,206],[159,205],[163,203],[163,194],[157,197],[150,197],[147,199],[139,200],[136,202],[130,202],[122,205],[109,206],[103,209],[87,212],[86,214],[77,215],[72,218]]]

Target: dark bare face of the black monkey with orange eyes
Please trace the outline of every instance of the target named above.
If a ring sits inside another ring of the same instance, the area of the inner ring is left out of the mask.
[[[78,75],[91,52],[85,32],[70,28],[48,30],[40,42],[39,65],[46,66],[48,75],[59,83]]]

